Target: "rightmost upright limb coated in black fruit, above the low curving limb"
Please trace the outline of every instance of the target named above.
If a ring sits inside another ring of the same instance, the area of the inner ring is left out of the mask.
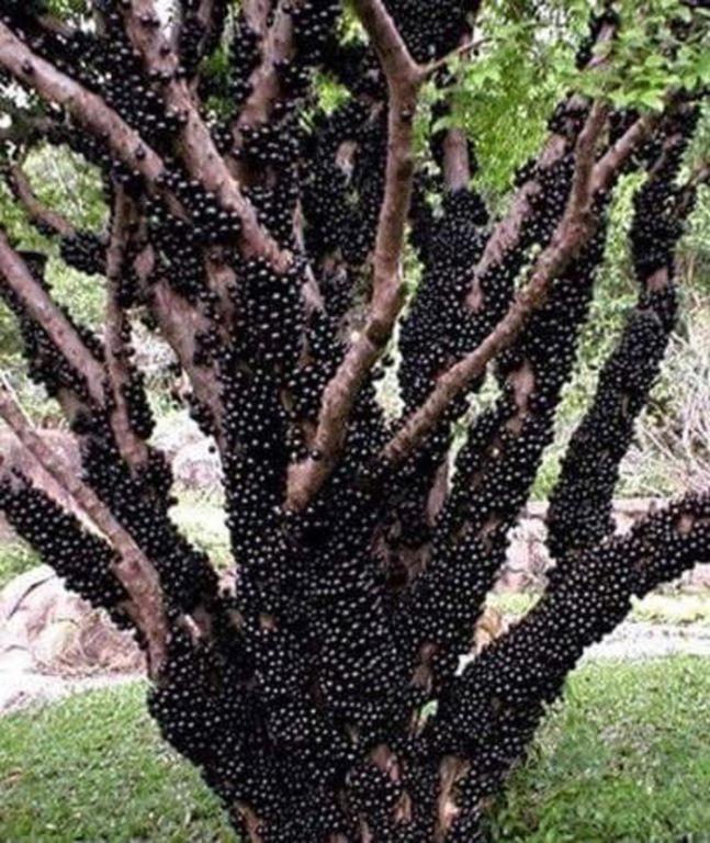
[[[559,566],[571,552],[613,532],[611,504],[619,465],[676,324],[674,251],[683,212],[673,200],[681,192],[675,180],[688,137],[674,116],[661,155],[649,165],[649,179],[634,198],[630,240],[639,301],[605,362],[594,401],[574,431],[550,496],[548,546]],[[649,240],[654,249],[647,249]]]

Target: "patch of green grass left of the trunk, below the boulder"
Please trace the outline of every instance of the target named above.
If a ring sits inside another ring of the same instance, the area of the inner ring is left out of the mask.
[[[145,686],[4,718],[4,843],[222,843],[234,838],[195,769],[159,739]]]

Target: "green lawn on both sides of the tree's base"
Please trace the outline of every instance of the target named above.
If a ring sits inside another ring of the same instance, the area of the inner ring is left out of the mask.
[[[233,838],[139,685],[0,722],[4,843]],[[491,811],[498,843],[710,841],[710,660],[587,664]]]

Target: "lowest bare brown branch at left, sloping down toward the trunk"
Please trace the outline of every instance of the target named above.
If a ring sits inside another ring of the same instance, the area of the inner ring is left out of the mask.
[[[0,382],[0,416],[40,467],[50,474],[67,493],[76,509],[83,513],[119,552],[120,561],[113,565],[112,571],[128,593],[132,619],[148,642],[150,674],[154,677],[159,676],[166,659],[168,623],[155,567],[94,492],[64,465],[32,429],[2,382]]]

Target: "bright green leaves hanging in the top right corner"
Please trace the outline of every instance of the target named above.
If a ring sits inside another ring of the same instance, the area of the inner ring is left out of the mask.
[[[565,92],[646,111],[662,108],[672,90],[710,82],[710,13],[690,12],[681,0],[618,0],[617,38],[596,48],[605,59],[598,67],[581,71],[575,56],[594,8],[588,0],[486,3],[473,60],[453,58],[453,83],[429,94],[446,98],[452,110],[436,123],[425,119],[420,134],[465,127],[481,164],[478,186],[489,196],[499,199],[515,170],[538,153],[548,117]],[[425,117],[430,105],[425,101]]]

